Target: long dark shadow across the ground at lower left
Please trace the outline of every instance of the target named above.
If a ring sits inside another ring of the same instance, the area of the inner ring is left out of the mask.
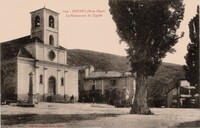
[[[94,120],[102,117],[117,117],[120,114],[19,114],[1,115],[1,125],[54,124],[80,120]]]

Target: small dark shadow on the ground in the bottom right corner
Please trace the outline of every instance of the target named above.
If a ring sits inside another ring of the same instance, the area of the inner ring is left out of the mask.
[[[178,127],[178,128],[199,128],[200,120],[180,123],[176,127]]]

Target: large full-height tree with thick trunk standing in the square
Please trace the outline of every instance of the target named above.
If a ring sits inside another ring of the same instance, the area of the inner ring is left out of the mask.
[[[154,76],[178,39],[182,0],[109,0],[120,42],[126,42],[132,72],[137,72],[131,114],[152,114],[147,105],[147,78]],[[183,35],[183,34],[182,34]]]

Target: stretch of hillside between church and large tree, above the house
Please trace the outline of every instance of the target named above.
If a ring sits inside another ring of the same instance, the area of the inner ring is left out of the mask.
[[[128,60],[124,56],[89,50],[68,50],[68,64],[71,66],[93,65],[95,69],[103,71],[129,71]]]

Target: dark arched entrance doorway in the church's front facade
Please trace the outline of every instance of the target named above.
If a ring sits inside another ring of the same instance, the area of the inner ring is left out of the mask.
[[[48,101],[51,102],[53,96],[56,95],[56,78],[51,76],[49,78],[49,88],[48,88]]]

